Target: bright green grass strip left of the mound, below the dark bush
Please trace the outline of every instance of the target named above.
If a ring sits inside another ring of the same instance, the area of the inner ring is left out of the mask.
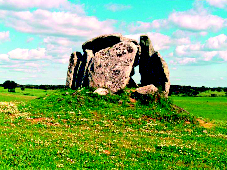
[[[42,90],[42,89],[25,89],[21,91],[20,88],[16,88],[16,92],[8,92],[8,89],[0,87],[0,101],[2,102],[26,102],[33,100],[37,97],[51,94],[54,90]]]

